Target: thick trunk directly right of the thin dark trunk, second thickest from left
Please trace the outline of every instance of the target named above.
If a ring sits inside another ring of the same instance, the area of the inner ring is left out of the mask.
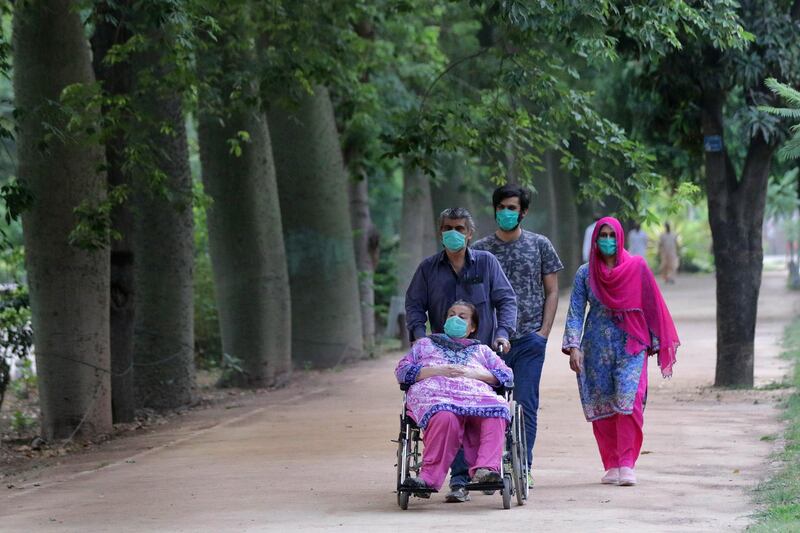
[[[170,409],[193,402],[196,392],[192,178],[181,96],[152,81],[167,79],[172,40],[163,28],[147,29],[154,46],[135,60],[136,90],[145,121],[141,133],[155,149],[163,181],[156,187],[152,173],[139,176],[133,202],[134,386],[139,405]]]

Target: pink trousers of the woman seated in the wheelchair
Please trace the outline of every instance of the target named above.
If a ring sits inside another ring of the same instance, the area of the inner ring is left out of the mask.
[[[460,416],[439,411],[428,421],[422,437],[425,448],[419,477],[429,487],[439,490],[462,446],[464,459],[470,465],[470,476],[478,468],[500,471],[505,429],[503,418]]]

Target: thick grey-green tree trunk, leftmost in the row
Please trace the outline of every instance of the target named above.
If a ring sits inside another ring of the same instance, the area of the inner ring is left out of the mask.
[[[111,430],[109,252],[72,247],[73,210],[105,195],[102,150],[80,132],[45,140],[43,122],[69,117],[48,105],[74,83],[93,83],[89,44],[74,2],[15,6],[14,93],[18,176],[34,197],[23,214],[42,434],[46,439]]]

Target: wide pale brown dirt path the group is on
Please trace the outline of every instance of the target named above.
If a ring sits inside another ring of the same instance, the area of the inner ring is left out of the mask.
[[[800,298],[764,277],[759,384],[779,381],[776,339]],[[192,413],[145,435],[0,488],[2,531],[722,531],[742,529],[768,469],[776,399],[785,391],[717,391],[714,285],[682,278],[665,295],[683,340],[675,378],[650,369],[644,455],[634,488],[598,483],[601,465],[574,376],[559,351],[566,303],[542,384],[536,488],[524,507],[498,495],[445,504],[394,494],[400,393],[395,355],[312,375],[240,404]]]

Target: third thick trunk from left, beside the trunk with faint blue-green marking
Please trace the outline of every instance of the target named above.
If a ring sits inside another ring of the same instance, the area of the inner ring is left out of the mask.
[[[243,370],[222,384],[281,384],[291,372],[291,300],[269,130],[255,110],[234,110],[220,122],[200,115],[203,184],[213,199],[208,236],[222,348]],[[236,157],[227,141],[239,131],[247,131],[250,142]]]

